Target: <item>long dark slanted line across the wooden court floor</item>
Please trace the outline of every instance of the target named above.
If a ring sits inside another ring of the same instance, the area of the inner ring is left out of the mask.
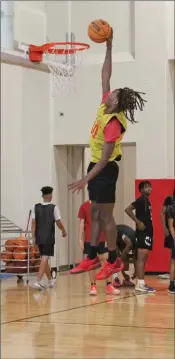
[[[157,290],[157,292],[161,292],[161,291],[164,291],[164,290],[166,290],[166,288],[159,289],[159,290]],[[134,297],[138,297],[138,296],[141,296],[141,295],[149,296],[149,294],[145,294],[145,293],[135,293],[135,292],[134,292],[132,295],[128,295],[128,296],[124,296],[124,297],[113,298],[113,301],[118,302],[118,301],[120,301],[120,300],[122,300],[122,299],[128,299],[128,298],[132,298],[132,297],[134,298]],[[10,320],[10,321],[7,321],[7,322],[1,322],[1,325],[11,324],[11,323],[25,322],[25,321],[27,321],[27,320],[34,319],[34,318],[41,318],[41,317],[48,316],[48,315],[52,315],[52,314],[70,312],[71,310],[88,308],[88,307],[97,306],[97,305],[105,304],[105,303],[107,303],[106,300],[103,300],[103,301],[97,302],[97,303],[84,304],[84,305],[81,305],[81,306],[78,306],[78,307],[67,308],[67,309],[62,309],[62,310],[57,310],[57,311],[53,311],[53,312],[49,312],[49,313],[44,313],[44,314],[39,314],[39,315],[33,315],[33,316],[31,316],[31,317],[14,319],[14,320]]]

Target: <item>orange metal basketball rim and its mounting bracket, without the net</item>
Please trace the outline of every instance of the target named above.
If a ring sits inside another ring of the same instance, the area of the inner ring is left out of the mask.
[[[55,49],[54,46],[55,45],[60,45],[60,49]],[[77,46],[71,49],[64,49],[61,48],[61,46],[66,46],[66,45],[73,45],[73,46]],[[85,51],[88,50],[90,48],[90,45],[83,43],[83,42],[51,42],[51,43],[47,43],[41,46],[36,46],[36,45],[30,45],[29,46],[29,58],[31,61],[37,61],[40,62],[42,60],[42,55],[45,52],[48,52],[49,54],[57,54],[57,55],[69,55],[69,54],[74,54],[75,52],[78,51]]]

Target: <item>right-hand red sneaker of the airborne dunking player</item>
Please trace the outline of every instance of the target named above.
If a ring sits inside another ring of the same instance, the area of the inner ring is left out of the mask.
[[[124,269],[124,264],[120,258],[117,258],[114,263],[105,262],[103,268],[96,274],[97,280],[104,280],[109,278],[112,274],[121,272]]]

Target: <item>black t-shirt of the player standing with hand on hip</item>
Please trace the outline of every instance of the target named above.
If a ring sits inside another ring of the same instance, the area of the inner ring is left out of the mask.
[[[136,210],[137,219],[144,223],[145,232],[149,236],[153,236],[153,223],[152,223],[152,209],[149,199],[145,196],[140,196],[135,202],[132,202]],[[137,230],[138,231],[138,230]]]

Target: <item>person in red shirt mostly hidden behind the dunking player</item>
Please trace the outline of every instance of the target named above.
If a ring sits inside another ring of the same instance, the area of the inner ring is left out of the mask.
[[[86,201],[80,206],[78,212],[78,218],[80,220],[79,223],[79,235],[78,242],[80,249],[83,251],[84,256],[86,257],[88,254],[89,246],[90,246],[90,238],[91,238],[91,201]],[[108,252],[108,248],[105,247],[105,233],[101,232],[100,237],[98,239],[97,253],[100,259],[100,262],[104,264],[106,255]],[[96,286],[96,271],[92,270],[89,272],[89,279],[91,283],[90,295],[97,295],[97,286]],[[112,278],[109,277],[106,280],[106,294],[119,294],[120,291],[113,287]]]

